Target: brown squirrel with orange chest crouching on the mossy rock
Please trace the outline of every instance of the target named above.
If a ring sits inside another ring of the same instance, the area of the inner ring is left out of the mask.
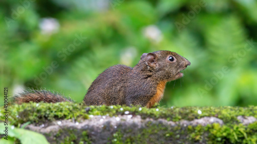
[[[181,55],[161,50],[143,53],[134,67],[115,65],[107,68],[93,81],[83,101],[86,105],[125,105],[151,108],[164,93],[166,83],[183,76],[180,72],[191,63]],[[72,99],[45,90],[24,91],[13,97],[24,102],[61,102]]]

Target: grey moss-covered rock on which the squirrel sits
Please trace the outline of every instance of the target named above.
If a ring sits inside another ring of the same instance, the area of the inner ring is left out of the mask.
[[[257,143],[257,107],[12,105],[9,122],[50,143]],[[1,109],[1,119],[4,121]]]

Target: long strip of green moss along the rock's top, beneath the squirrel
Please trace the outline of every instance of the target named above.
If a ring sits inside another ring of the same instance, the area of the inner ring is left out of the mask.
[[[121,109],[122,108],[122,109]],[[158,109],[158,111],[156,111]],[[87,119],[88,115],[106,115],[115,116],[123,115],[125,111],[130,114],[141,115],[142,118],[151,117],[154,119],[164,118],[172,121],[181,119],[193,120],[205,116],[214,116],[227,122],[238,122],[237,116],[254,116],[257,117],[257,107],[184,107],[184,108],[140,108],[139,107],[122,107],[122,106],[85,106],[84,104],[74,104],[70,102],[60,102],[57,104],[46,103],[28,103],[22,105],[12,105],[9,107],[11,124],[17,126],[24,122],[45,122],[57,119],[75,120]],[[198,110],[201,114],[198,114]],[[2,115],[4,109],[1,109]],[[4,121],[1,117],[0,120]]]

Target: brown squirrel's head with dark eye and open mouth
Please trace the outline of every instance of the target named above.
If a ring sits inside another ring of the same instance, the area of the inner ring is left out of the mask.
[[[180,71],[191,65],[188,59],[171,51],[143,53],[140,61],[146,64],[153,77],[164,81],[182,77]]]

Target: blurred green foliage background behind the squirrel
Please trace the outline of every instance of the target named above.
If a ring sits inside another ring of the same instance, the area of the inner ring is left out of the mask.
[[[1,1],[0,87],[82,101],[104,69],[170,50],[191,66],[168,83],[161,105],[257,105],[256,13],[254,0]]]

